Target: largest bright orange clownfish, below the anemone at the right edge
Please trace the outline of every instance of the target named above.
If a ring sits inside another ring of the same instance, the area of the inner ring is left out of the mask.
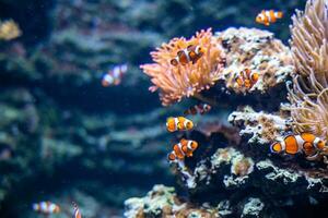
[[[312,133],[302,133],[300,135],[288,135],[270,146],[272,153],[285,153],[295,155],[304,153],[308,158],[315,158],[318,152],[323,150],[326,143]]]

